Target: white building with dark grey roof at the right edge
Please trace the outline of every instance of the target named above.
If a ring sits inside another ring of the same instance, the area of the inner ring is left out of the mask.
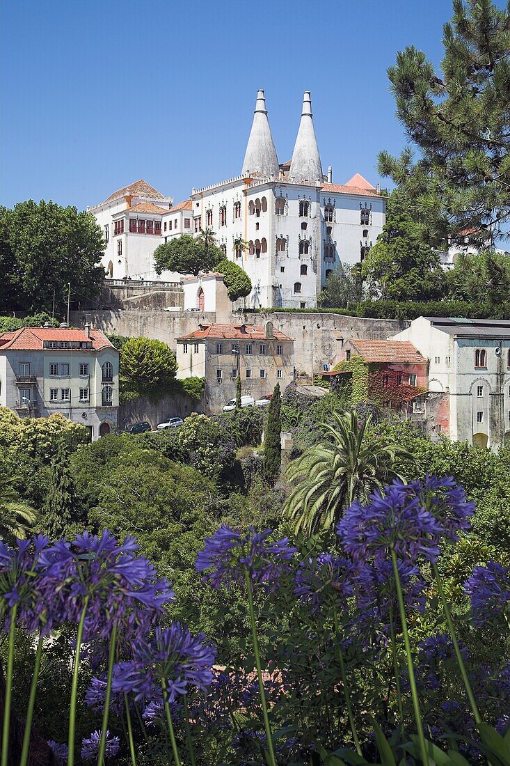
[[[430,392],[444,394],[437,432],[498,450],[510,437],[510,321],[420,316],[394,336],[430,360]]]

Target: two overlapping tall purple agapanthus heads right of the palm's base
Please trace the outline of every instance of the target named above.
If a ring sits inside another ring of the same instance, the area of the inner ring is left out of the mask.
[[[391,551],[401,560],[423,556],[436,561],[441,538],[466,529],[473,509],[452,479],[427,476],[423,483],[410,484],[395,480],[383,493],[373,493],[368,506],[353,502],[336,532],[356,561],[381,561]]]

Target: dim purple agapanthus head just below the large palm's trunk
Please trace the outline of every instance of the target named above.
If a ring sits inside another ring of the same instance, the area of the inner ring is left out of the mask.
[[[345,603],[354,591],[352,562],[348,558],[321,553],[317,558],[306,558],[297,568],[294,593],[313,610],[325,601]]]

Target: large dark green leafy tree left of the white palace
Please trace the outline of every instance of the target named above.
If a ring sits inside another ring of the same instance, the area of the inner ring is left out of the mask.
[[[0,208],[0,310],[51,311],[64,316],[71,297],[95,300],[104,270],[105,243],[93,214],[55,202],[19,202]]]

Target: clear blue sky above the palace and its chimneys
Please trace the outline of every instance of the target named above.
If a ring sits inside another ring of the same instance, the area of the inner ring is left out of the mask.
[[[3,0],[0,202],[85,208],[145,178],[175,202],[240,173],[257,89],[280,162],[312,91],[322,166],[376,183],[402,126],[386,70],[442,55],[450,0]]]

